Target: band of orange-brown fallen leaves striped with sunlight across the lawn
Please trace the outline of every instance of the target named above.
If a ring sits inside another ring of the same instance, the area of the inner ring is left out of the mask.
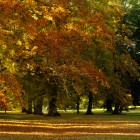
[[[140,121],[5,121],[0,120],[0,135],[140,137]]]

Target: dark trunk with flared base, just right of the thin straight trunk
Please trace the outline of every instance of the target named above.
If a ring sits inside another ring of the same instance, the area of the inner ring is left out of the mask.
[[[92,103],[93,103],[93,95],[92,95],[92,92],[89,91],[89,94],[88,94],[88,108],[87,108],[87,112],[85,113],[86,115],[93,115],[93,113],[92,113]]]

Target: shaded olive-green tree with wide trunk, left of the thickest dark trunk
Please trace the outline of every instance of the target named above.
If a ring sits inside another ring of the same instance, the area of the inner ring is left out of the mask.
[[[19,80],[24,89],[23,98],[27,102],[28,114],[43,114],[43,98],[49,92],[49,84],[42,74],[34,75],[28,72],[26,75],[21,76]],[[33,112],[34,108],[34,112]]]

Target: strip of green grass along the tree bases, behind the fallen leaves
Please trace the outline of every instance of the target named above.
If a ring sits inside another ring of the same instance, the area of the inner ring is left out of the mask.
[[[5,114],[4,112],[0,112],[0,119],[8,119],[8,120],[46,120],[48,121],[72,121],[72,120],[92,120],[92,121],[113,121],[113,120],[129,120],[129,121],[140,121],[140,111],[130,111],[124,112],[121,115],[112,115],[110,113],[106,113],[103,110],[95,110],[94,115],[84,115],[81,113],[77,115],[76,113],[66,112],[62,113],[61,116],[58,117],[48,117],[48,116],[40,116],[40,115],[33,115],[33,114],[25,114],[19,111],[7,111]]]

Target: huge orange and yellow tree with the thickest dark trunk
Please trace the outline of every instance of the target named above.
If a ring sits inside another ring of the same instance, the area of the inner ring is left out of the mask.
[[[26,75],[30,72],[35,77],[42,74],[49,82],[51,95],[48,115],[59,114],[56,106],[59,78],[70,77],[75,85],[82,82],[90,91],[96,91],[98,83],[108,86],[107,78],[95,64],[95,50],[105,48],[111,51],[114,45],[110,17],[118,5],[112,11],[113,4],[106,2],[0,2],[0,42],[4,48],[5,62],[8,56],[16,74]],[[104,13],[105,8],[110,11],[110,16]]]

